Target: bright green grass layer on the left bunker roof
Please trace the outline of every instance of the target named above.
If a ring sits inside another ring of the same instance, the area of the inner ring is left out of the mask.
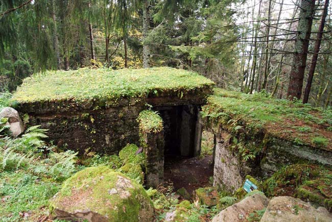
[[[144,97],[149,93],[185,92],[214,83],[196,72],[156,67],[147,69],[80,68],[46,71],[26,78],[14,93],[18,103]]]

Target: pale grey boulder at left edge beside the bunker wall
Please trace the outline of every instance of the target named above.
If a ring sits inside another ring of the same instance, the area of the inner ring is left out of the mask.
[[[11,107],[3,108],[0,111],[0,119],[1,118],[8,118],[6,125],[10,126],[10,131],[13,136],[18,136],[19,134],[23,133],[23,123],[15,109]]]

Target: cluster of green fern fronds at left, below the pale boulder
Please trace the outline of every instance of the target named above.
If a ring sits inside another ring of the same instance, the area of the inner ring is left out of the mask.
[[[4,137],[0,139],[0,170],[26,169],[35,175],[63,180],[76,170],[78,153],[66,151],[55,153],[53,146],[45,145],[43,138],[47,130],[40,126],[30,127],[20,138]],[[50,152],[45,158],[42,151]]]

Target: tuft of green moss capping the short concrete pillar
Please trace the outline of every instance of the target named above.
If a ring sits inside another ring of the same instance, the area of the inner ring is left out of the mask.
[[[139,130],[145,133],[158,133],[162,131],[162,118],[157,112],[151,110],[141,111],[138,115]]]

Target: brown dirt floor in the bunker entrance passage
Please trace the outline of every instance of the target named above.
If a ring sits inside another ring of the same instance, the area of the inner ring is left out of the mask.
[[[164,181],[173,183],[174,191],[184,187],[191,195],[199,187],[211,186],[209,178],[213,172],[212,155],[203,158],[168,157],[164,163]]]

